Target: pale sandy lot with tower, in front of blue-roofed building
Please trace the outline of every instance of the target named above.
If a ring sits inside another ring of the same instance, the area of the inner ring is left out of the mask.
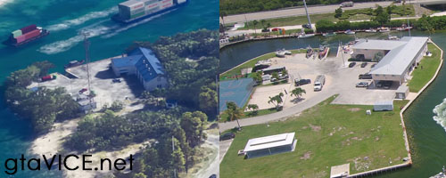
[[[123,101],[128,105],[128,109],[142,108],[142,105],[131,105],[130,103],[136,101],[136,96],[143,91],[143,86],[137,82],[134,76],[115,77],[109,67],[110,64],[111,59],[95,61],[89,64],[91,90],[96,94],[97,109],[101,109],[104,104],[110,106],[113,101]],[[56,73],[54,74],[56,79],[35,83],[31,87],[36,85],[48,88],[65,87],[71,95],[76,95],[83,88],[88,88],[87,65],[66,69],[66,71],[75,76],[75,78],[65,77]],[[119,78],[120,82],[113,82],[114,78]]]

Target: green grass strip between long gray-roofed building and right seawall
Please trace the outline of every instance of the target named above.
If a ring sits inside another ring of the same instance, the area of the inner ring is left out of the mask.
[[[441,51],[434,44],[427,44],[427,49],[432,53],[431,57],[423,57],[419,66],[412,72],[412,79],[409,81],[409,91],[417,93],[432,77],[435,75],[435,71],[440,65]],[[423,69],[421,69],[423,66]]]

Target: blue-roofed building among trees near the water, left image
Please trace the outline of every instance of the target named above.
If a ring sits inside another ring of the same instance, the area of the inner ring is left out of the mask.
[[[161,62],[152,50],[138,47],[126,57],[111,60],[111,68],[116,76],[136,75],[145,90],[168,86],[167,77]]]

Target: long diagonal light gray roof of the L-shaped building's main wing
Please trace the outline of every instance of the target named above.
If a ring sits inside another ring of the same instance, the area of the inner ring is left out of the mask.
[[[375,68],[369,74],[378,75],[402,75],[405,69],[409,67],[417,53],[423,48],[427,41],[427,37],[409,37],[401,38],[399,42],[404,43],[387,53],[384,58],[379,61]],[[383,44],[390,40],[379,40]]]

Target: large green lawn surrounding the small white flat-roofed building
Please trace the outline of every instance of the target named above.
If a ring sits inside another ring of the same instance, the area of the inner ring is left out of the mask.
[[[331,166],[346,163],[351,174],[403,163],[408,155],[399,112],[408,101],[394,101],[394,111],[366,116],[373,106],[330,104],[334,99],[286,121],[245,126],[221,162],[220,176],[328,177]],[[297,139],[293,152],[252,159],[237,156],[251,138],[290,132]]]

